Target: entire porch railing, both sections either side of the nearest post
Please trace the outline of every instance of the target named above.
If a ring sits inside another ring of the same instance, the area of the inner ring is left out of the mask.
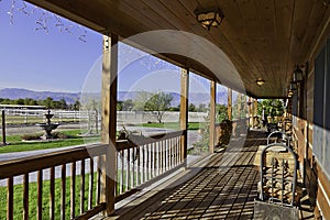
[[[117,142],[117,201],[182,164],[182,135]],[[7,207],[0,219],[88,219],[101,212],[106,153],[106,144],[95,144],[0,162],[0,206]]]

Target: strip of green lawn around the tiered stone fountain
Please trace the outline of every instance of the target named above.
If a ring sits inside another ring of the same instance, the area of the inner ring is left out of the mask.
[[[94,138],[80,138],[77,134],[80,133],[80,130],[70,130],[62,131],[66,135],[72,136],[72,139],[50,141],[50,142],[22,142],[22,135],[9,135],[7,136],[7,143],[9,145],[1,146],[0,153],[10,153],[10,152],[23,152],[23,151],[33,151],[33,150],[45,150],[45,148],[56,148],[63,146],[74,146],[81,145],[85,143],[95,143],[99,142],[99,136]],[[42,135],[42,134],[41,134]]]

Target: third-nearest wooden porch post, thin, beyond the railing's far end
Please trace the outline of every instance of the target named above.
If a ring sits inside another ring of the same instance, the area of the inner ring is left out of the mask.
[[[210,88],[211,99],[210,99],[210,143],[209,153],[215,151],[215,140],[216,140],[216,105],[217,105],[217,82],[211,80]]]

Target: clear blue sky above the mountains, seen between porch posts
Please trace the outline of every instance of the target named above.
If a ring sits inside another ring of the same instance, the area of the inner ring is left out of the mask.
[[[26,6],[0,1],[0,88],[99,90],[102,35]],[[121,45],[119,59],[134,53],[145,55]],[[208,80],[193,75],[190,81],[190,91],[209,91]],[[133,62],[120,73],[119,90],[142,89],[179,91],[179,68],[151,56]]]

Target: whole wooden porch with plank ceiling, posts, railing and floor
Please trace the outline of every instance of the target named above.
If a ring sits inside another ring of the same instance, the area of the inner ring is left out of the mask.
[[[250,105],[255,105],[249,107],[249,117],[256,116],[256,99],[288,100],[294,148],[299,155],[304,184],[315,197],[312,208],[316,218],[330,217],[330,166],[324,160],[330,152],[326,145],[330,118],[326,100],[329,94],[324,89],[330,84],[324,70],[330,65],[330,40],[327,41],[330,33],[329,1],[28,1],[105,34],[102,144],[2,163],[0,179],[8,182],[7,219],[13,219],[16,210],[15,176],[23,179],[23,202],[20,202],[23,205],[23,219],[29,219],[31,172],[37,173],[37,206],[33,207],[37,219],[48,217],[43,215],[44,209],[47,209],[50,219],[57,217],[56,213],[62,219],[68,216],[87,219],[99,212],[122,219],[253,218],[257,172],[252,161],[256,144],[265,141],[265,136],[250,133],[246,143],[234,140],[234,144],[226,151],[207,157],[209,163],[204,164],[205,168],[200,164],[186,167],[190,72],[211,81],[209,152],[215,150],[217,84],[251,97]],[[226,19],[219,29],[204,29],[196,21],[196,10],[213,7],[221,9]],[[155,56],[182,68],[179,131],[136,140],[135,143],[116,140],[119,42],[155,52]],[[297,80],[293,76],[296,70],[304,70],[302,79]],[[231,101],[228,103],[231,110]],[[237,147],[239,144],[242,144],[241,148]],[[46,196],[43,169],[50,170]],[[156,190],[124,204],[130,196],[141,194],[154,179],[160,180],[178,170],[182,173],[175,173],[178,175],[164,182]],[[57,184],[56,172],[62,174]],[[183,179],[186,182],[170,188],[173,183]],[[59,201],[55,199],[55,188],[61,189]],[[50,199],[48,207],[43,207],[45,197]],[[56,209],[59,209],[58,212]],[[314,218],[312,215],[307,217]]]

